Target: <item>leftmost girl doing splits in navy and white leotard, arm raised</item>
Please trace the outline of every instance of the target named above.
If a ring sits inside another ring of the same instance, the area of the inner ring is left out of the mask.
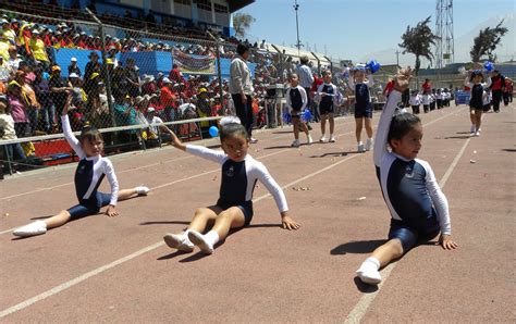
[[[119,191],[119,182],[114,174],[113,164],[109,159],[100,155],[103,148],[103,140],[100,132],[94,127],[83,127],[81,139],[77,139],[73,135],[67,116],[71,103],[72,96],[69,94],[62,112],[61,122],[66,141],[81,159],[75,171],[74,179],[78,204],[69,210],[63,210],[59,212],[59,214],[45,221],[36,221],[16,228],[13,232],[15,236],[27,237],[45,234],[48,228],[59,227],[71,220],[97,214],[100,211],[100,208],[108,204],[109,207],[106,214],[110,217],[114,217],[119,215],[118,211],[114,209],[118,200],[128,199],[133,196],[147,195],[149,191],[149,188],[143,186]],[[111,195],[97,191],[106,175],[108,176],[111,186]]]

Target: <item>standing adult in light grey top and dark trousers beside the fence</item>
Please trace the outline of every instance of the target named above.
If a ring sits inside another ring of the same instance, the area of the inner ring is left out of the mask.
[[[256,142],[253,138],[253,83],[250,80],[250,70],[247,66],[247,59],[249,58],[249,47],[244,43],[238,43],[236,47],[238,55],[231,61],[230,65],[230,92],[235,103],[236,115],[242,122],[242,125],[247,129],[251,142]]]

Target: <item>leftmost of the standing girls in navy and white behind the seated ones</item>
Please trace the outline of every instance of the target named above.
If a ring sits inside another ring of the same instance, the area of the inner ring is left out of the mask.
[[[305,132],[307,144],[314,141],[306,123],[300,120],[300,114],[308,104],[308,97],[305,89],[299,86],[297,74],[291,74],[288,82],[291,87],[286,90],[286,108],[291,110],[292,124],[294,124],[294,141],[292,142],[292,147],[297,148],[299,147],[299,128]]]

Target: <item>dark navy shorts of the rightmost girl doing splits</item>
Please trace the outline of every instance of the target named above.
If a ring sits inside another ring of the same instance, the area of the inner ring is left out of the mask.
[[[403,252],[406,253],[418,244],[427,242],[438,236],[440,230],[437,217],[429,219],[423,228],[416,228],[405,221],[391,219],[389,239],[400,239]]]

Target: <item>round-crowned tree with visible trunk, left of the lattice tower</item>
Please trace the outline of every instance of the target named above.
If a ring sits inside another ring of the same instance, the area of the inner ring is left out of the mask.
[[[421,66],[420,57],[426,58],[432,62],[433,54],[431,51],[432,45],[435,45],[437,36],[432,33],[432,29],[428,26],[430,23],[430,16],[425,21],[419,22],[416,27],[407,26],[407,30],[402,35],[403,42],[398,46],[403,48],[403,53],[413,53],[416,55],[416,65],[414,67],[414,74],[417,75],[419,67]]]

